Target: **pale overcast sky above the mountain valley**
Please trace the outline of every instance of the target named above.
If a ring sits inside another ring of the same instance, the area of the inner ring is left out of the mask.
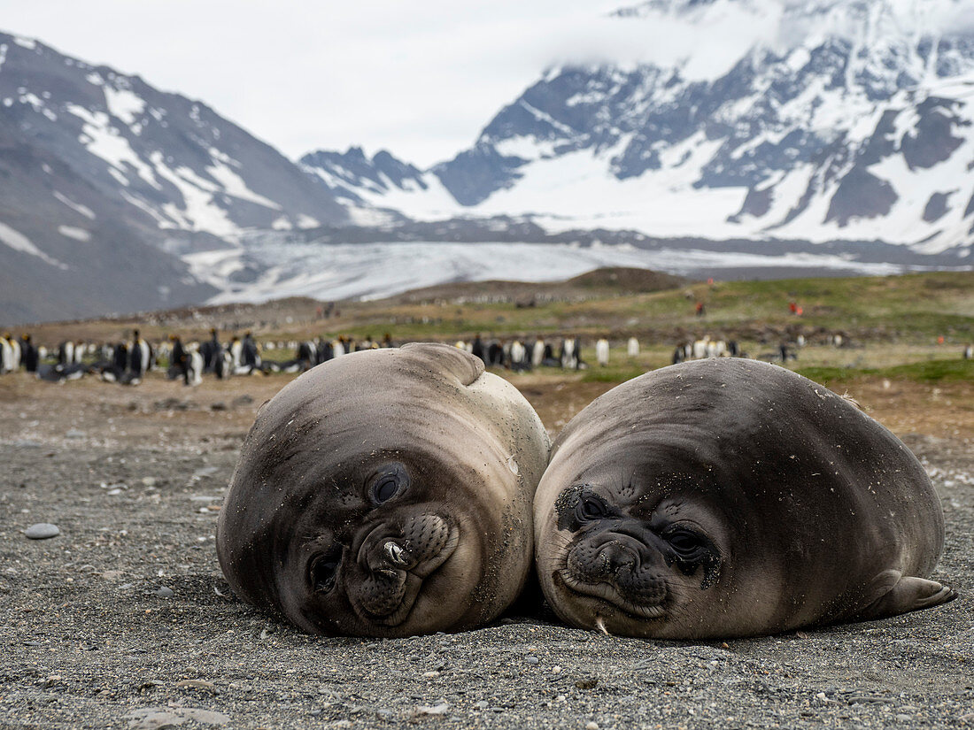
[[[593,52],[626,4],[0,0],[0,29],[200,99],[292,158],[358,144],[427,166],[545,67]]]

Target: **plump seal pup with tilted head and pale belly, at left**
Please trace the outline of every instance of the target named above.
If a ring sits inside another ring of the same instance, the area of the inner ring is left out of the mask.
[[[330,360],[257,414],[217,525],[245,601],[325,635],[481,626],[524,587],[550,443],[456,347]]]

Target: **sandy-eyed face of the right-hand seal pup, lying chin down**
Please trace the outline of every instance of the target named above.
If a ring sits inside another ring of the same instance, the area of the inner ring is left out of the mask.
[[[537,560],[545,595],[576,626],[623,636],[693,635],[724,610],[732,523],[701,485],[713,479],[679,460],[617,452],[577,473],[552,461],[539,492]],[[670,455],[675,456],[675,455]],[[578,466],[578,464],[574,464]],[[550,481],[549,481],[550,480]]]

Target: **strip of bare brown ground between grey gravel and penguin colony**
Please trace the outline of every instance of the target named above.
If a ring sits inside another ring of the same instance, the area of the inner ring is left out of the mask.
[[[552,437],[616,384],[584,382],[576,374],[500,374],[524,393]],[[43,441],[77,429],[110,446],[218,442],[236,448],[260,405],[291,377],[207,379],[188,388],[160,374],[150,374],[136,386],[94,378],[52,384],[19,374],[0,378],[0,420],[18,424],[21,438]],[[901,437],[918,433],[966,443],[974,439],[974,383],[856,378],[829,384]]]

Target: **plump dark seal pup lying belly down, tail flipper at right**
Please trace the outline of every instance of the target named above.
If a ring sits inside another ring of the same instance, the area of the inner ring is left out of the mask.
[[[950,601],[917,458],[822,385],[753,360],[622,383],[555,440],[535,497],[544,595],[582,628],[773,634]]]

